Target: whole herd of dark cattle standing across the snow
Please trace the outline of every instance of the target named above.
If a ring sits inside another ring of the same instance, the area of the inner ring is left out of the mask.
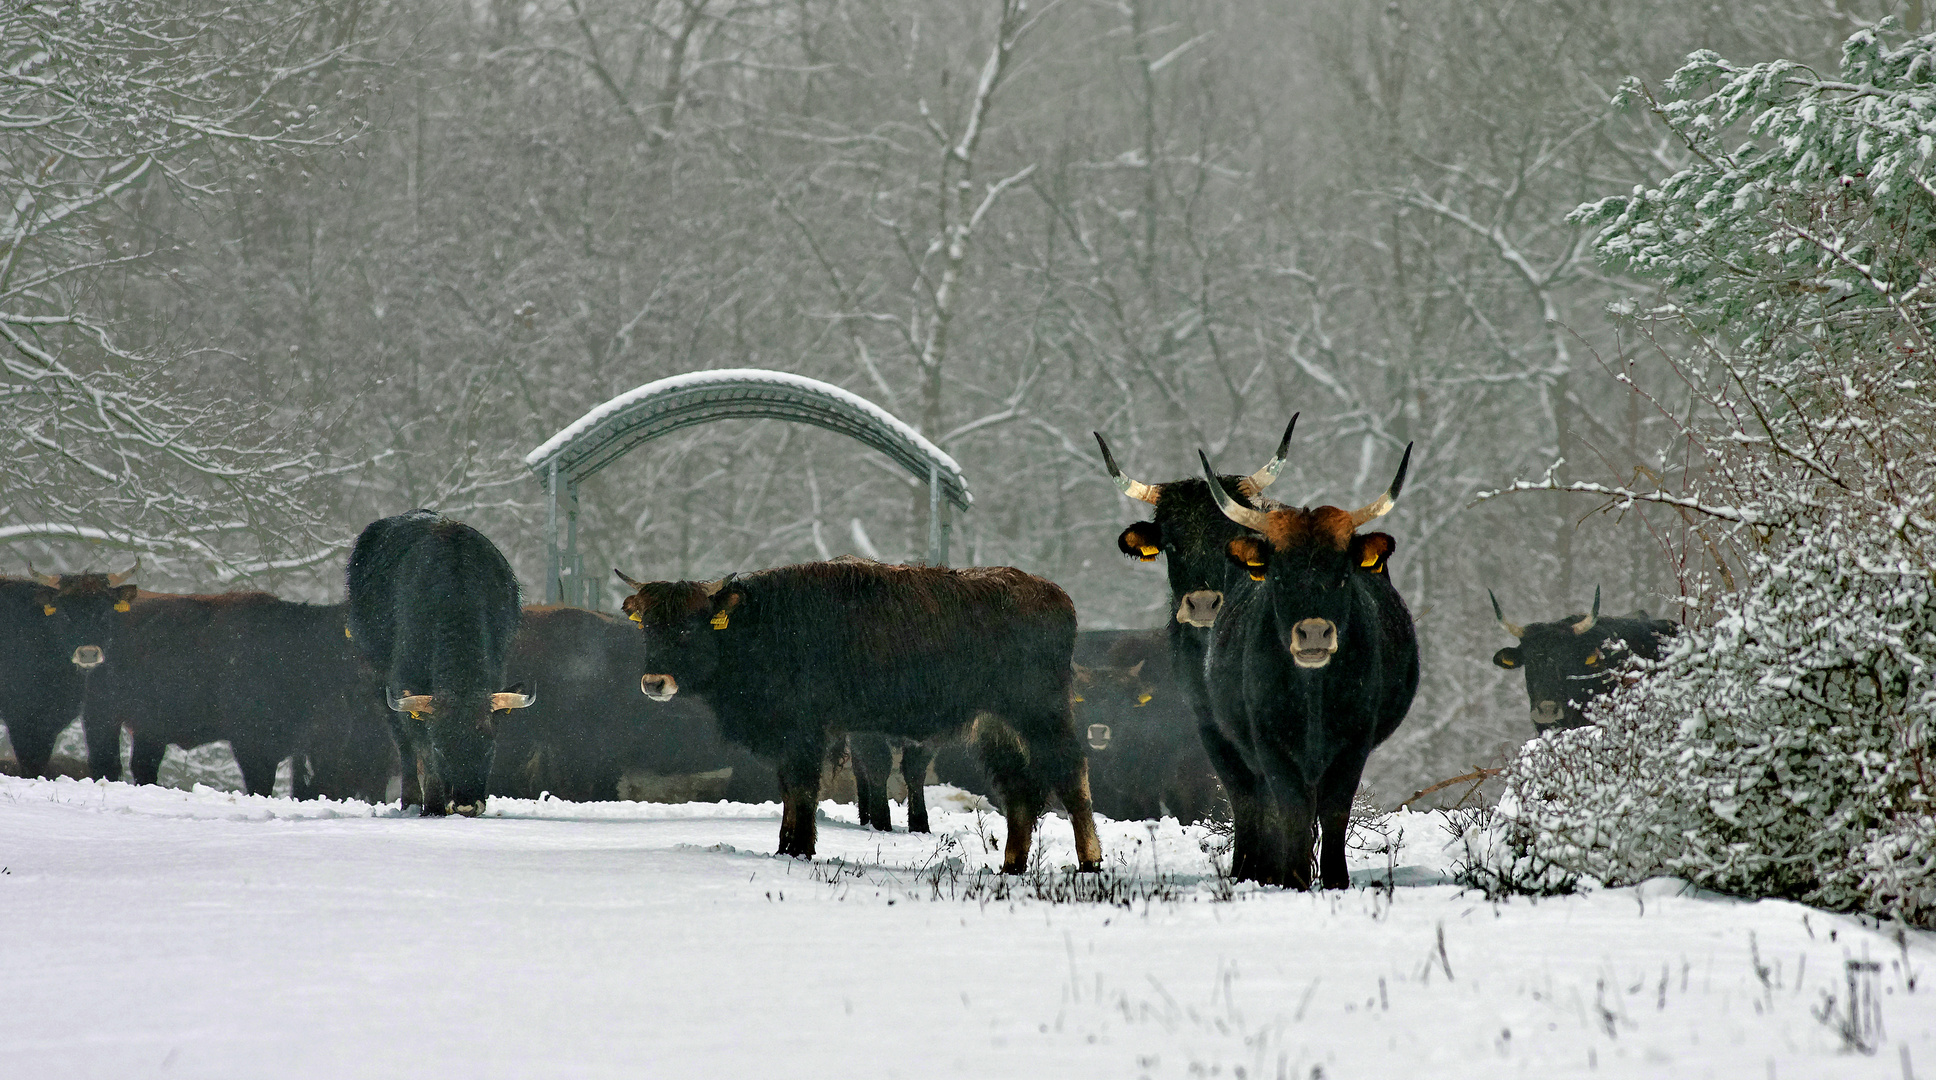
[[[89,776],[153,784],[168,745],[227,739],[252,794],[283,761],[296,797],[478,815],[488,795],[618,797],[629,776],[705,776],[711,797],[782,805],[780,854],[811,855],[825,768],[854,766],[860,817],[889,828],[900,755],[908,825],[927,828],[925,778],[993,797],[1003,869],[1028,863],[1057,799],[1080,869],[1098,869],[1092,807],[1233,821],[1239,879],[1307,888],[1313,836],[1324,888],[1349,883],[1344,840],[1365,761],[1419,681],[1411,615],[1386,573],[1392,536],[1363,528],[1398,499],[1291,507],[1264,495],[1276,455],[1247,476],[1131,480],[1154,507],[1117,538],[1162,555],[1162,631],[1076,631],[1053,583],[1013,567],[832,559],[709,583],[641,583],[627,621],[519,606],[498,548],[432,511],[356,538],[347,600],[263,592],[176,596],[128,573],[0,579],[0,722],[21,774],[48,774],[79,716]],[[136,569],[139,563],[136,565]],[[1653,658],[1673,623],[1593,610],[1506,621],[1535,730],[1586,722],[1624,652]],[[637,689],[633,689],[637,687]],[[643,693],[641,693],[643,691]],[[401,782],[397,780],[401,772]]]

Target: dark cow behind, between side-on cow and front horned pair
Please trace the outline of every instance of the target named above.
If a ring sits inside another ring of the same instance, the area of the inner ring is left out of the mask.
[[[1160,629],[1076,635],[1076,735],[1088,751],[1096,813],[1117,821],[1224,817],[1167,639]]]

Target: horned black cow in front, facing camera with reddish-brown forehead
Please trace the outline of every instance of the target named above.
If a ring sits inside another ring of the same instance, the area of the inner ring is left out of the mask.
[[[1212,476],[1210,459],[1202,465]],[[1224,606],[1206,656],[1216,718],[1206,749],[1229,792],[1239,879],[1309,888],[1320,823],[1324,888],[1351,883],[1351,795],[1419,685],[1411,614],[1386,573],[1396,542],[1357,528],[1392,509],[1409,465],[1407,445],[1392,486],[1355,511],[1258,511],[1212,488],[1218,509],[1255,532],[1225,554],[1258,583]]]

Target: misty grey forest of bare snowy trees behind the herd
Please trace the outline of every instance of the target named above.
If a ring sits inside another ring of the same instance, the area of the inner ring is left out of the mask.
[[[1611,93],[1694,48],[1831,72],[1884,15],[1921,2],[27,4],[0,17],[8,573],[141,552],[149,588],[335,600],[362,525],[434,507],[536,600],[523,455],[743,366],[960,461],[954,563],[1156,627],[1162,563],[1115,550],[1148,507],[1090,432],[1162,482],[1196,447],[1249,472],[1301,412],[1291,503],[1371,501],[1417,443],[1380,523],[1423,633],[1367,774],[1396,801],[1531,735],[1487,588],[1522,623],[1595,586],[1675,617],[1727,573],[1673,507],[1475,499],[1686,482],[1671,343],[1609,312],[1651,285],[1566,219],[1686,161]],[[918,559],[925,511],[848,439],[726,422],[590,480],[581,546],[641,579]]]

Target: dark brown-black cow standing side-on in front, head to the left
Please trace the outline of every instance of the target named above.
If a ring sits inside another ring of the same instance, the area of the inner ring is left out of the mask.
[[[821,763],[840,732],[966,732],[1003,794],[1003,871],[1028,865],[1049,792],[1076,861],[1102,867],[1088,765],[1069,714],[1076,612],[1013,567],[805,563],[712,583],[637,583],[625,614],[652,660],[639,687],[712,706],[720,734],[778,765],[780,854],[811,855]]]

